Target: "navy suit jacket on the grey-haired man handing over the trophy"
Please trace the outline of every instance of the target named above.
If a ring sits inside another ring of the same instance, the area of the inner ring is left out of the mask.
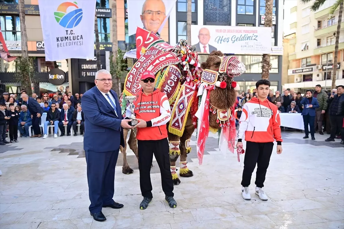
[[[124,147],[121,105],[116,92],[110,90],[110,93],[115,99],[118,116],[96,86],[81,98],[85,118],[85,151],[108,152],[118,150],[120,145]]]

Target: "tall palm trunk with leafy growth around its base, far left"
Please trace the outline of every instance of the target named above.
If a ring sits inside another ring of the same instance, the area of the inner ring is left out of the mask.
[[[32,60],[28,57],[28,35],[26,34],[26,24],[25,24],[25,7],[24,0],[19,0],[19,19],[20,19],[20,31],[21,31],[21,58],[19,67],[19,77],[21,89],[25,90],[30,96],[32,94],[31,87],[31,70],[32,70]]]

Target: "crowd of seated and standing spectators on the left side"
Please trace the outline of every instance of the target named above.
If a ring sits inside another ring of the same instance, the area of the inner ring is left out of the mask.
[[[18,137],[29,137],[30,126],[32,126],[33,115],[28,110],[28,101],[23,97],[27,96],[25,91],[21,91],[20,98],[17,93],[9,94],[4,92],[0,98],[0,145],[18,142]],[[73,127],[74,136],[77,135],[77,126],[80,126],[80,135],[84,132],[84,113],[81,106],[83,94],[76,93],[74,96],[71,92],[56,92],[50,98],[49,94],[44,93],[41,97],[32,93],[32,99],[36,100],[41,108],[41,113],[46,113],[46,119],[43,127],[43,139],[49,135],[49,127],[54,130],[54,138],[71,135]],[[31,100],[31,98],[30,98]],[[36,103],[36,104],[37,104]],[[37,105],[37,107],[39,107]],[[41,123],[40,123],[41,124]],[[65,126],[67,133],[65,133]],[[18,136],[18,130],[20,136]],[[7,131],[9,132],[10,141],[6,140]],[[31,137],[42,137],[32,135]]]

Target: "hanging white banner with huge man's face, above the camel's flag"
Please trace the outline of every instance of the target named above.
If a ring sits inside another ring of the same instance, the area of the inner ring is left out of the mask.
[[[176,0],[127,1],[129,36],[136,33],[137,27],[160,34],[175,2]]]

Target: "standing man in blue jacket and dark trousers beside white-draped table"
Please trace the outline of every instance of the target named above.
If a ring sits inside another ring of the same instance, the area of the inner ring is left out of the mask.
[[[305,136],[303,138],[308,138],[308,125],[311,131],[311,137],[312,140],[315,140],[314,138],[314,119],[315,119],[315,108],[319,107],[318,100],[316,98],[312,97],[312,91],[307,90],[306,91],[306,97],[303,98],[300,102],[302,105],[302,117],[303,117],[303,125],[304,125],[304,133]]]

